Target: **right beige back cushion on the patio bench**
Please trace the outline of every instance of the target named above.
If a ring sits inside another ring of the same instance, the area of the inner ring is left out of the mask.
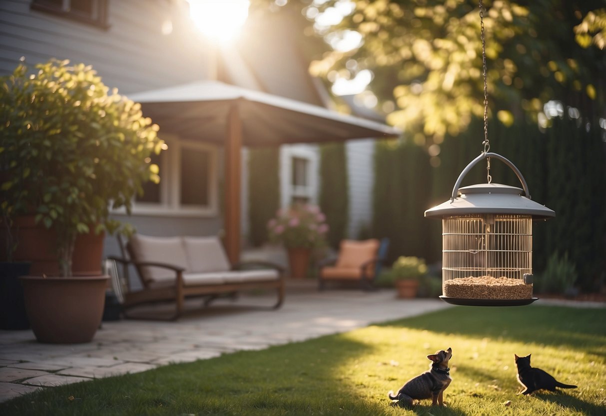
[[[217,237],[183,237],[188,272],[227,272],[231,269],[227,255]]]

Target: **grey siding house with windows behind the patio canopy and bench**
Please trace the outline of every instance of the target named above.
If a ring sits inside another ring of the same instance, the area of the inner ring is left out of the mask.
[[[324,88],[307,72],[308,62],[299,52],[301,36],[287,14],[249,19],[245,30],[255,36],[244,36],[238,47],[216,50],[192,24],[185,0],[5,0],[0,2],[0,75],[12,72],[22,56],[32,66],[53,57],[70,59],[92,65],[107,86],[128,96],[216,78],[221,62],[221,78],[231,84],[330,105]],[[162,134],[162,126],[160,132],[168,144],[155,160],[162,181],[147,185],[128,221],[148,235],[217,235],[222,230],[222,148]],[[371,218],[372,149],[370,139],[347,145],[353,237]],[[280,153],[282,206],[293,200],[316,203],[318,147],[293,144],[282,146]],[[183,180],[189,175],[203,179]],[[244,235],[246,195],[244,186]],[[107,238],[105,253],[118,253],[115,239]]]

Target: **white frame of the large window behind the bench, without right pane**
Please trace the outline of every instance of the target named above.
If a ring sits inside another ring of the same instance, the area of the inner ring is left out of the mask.
[[[168,150],[160,153],[160,202],[133,201],[133,215],[153,216],[216,216],[218,215],[218,148],[207,143],[179,140],[164,134]],[[195,149],[209,153],[208,204],[205,206],[181,205],[181,150]],[[114,213],[125,214],[124,208]]]

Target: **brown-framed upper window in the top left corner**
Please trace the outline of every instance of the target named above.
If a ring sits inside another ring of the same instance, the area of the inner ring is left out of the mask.
[[[32,9],[107,28],[107,0],[33,0]]]

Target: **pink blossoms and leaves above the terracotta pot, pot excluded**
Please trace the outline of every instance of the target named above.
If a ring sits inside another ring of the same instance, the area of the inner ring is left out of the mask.
[[[318,206],[295,204],[278,210],[276,218],[267,223],[270,241],[287,248],[312,248],[324,244],[328,231],[326,216]]]

